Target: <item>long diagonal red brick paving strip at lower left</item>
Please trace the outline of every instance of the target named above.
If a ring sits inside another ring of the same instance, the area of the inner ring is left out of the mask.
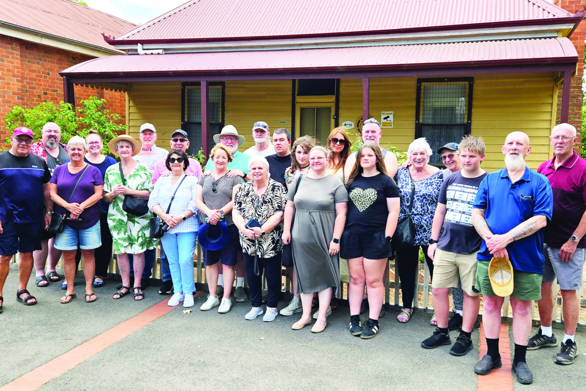
[[[197,293],[195,295],[197,295]],[[104,331],[102,334],[76,346],[69,352],[63,353],[59,357],[39,366],[39,368],[25,373],[25,375],[22,375],[20,378],[0,387],[0,391],[32,391],[38,389],[45,383],[62,375],[62,373],[67,372],[67,370],[70,370],[96,353],[103,351],[108,346],[115,344],[115,342],[120,341],[122,338],[125,338],[139,328],[148,325],[155,319],[162,317],[167,312],[173,310],[173,308],[176,308],[169,307],[167,305],[168,300],[169,298],[165,298],[165,300],[153,305],[151,308],[148,308],[148,310],[141,312],[135,317]]]

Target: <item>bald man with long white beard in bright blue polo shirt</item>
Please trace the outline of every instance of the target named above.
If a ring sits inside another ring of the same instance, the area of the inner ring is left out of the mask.
[[[482,237],[478,251],[476,290],[483,295],[482,322],[488,351],[474,366],[474,372],[488,375],[500,368],[500,311],[504,297],[497,296],[490,284],[488,266],[494,258],[510,260],[513,266],[513,337],[515,355],[512,370],[519,383],[533,382],[525,355],[531,332],[532,300],[541,298],[543,273],[543,232],[551,220],[553,196],[544,175],[529,169],[529,137],[523,132],[507,135],[502,146],[506,167],[487,175],[478,188],[472,210],[472,224]]]

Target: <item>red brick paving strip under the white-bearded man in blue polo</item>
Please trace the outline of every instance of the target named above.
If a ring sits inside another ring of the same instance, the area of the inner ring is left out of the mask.
[[[480,325],[479,358],[486,354],[486,336],[484,325]],[[500,325],[499,352],[503,366],[493,369],[488,375],[478,375],[478,391],[513,391],[513,373],[511,372],[511,347],[509,342],[509,327]],[[0,389],[2,390],[2,389]]]

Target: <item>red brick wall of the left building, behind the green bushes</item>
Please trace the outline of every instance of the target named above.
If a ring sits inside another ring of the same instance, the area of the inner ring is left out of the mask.
[[[14,106],[32,108],[39,103],[63,100],[63,78],[59,72],[93,57],[38,45],[0,35],[0,145],[8,137],[4,124],[6,114]],[[107,108],[126,118],[125,94],[117,91],[75,86],[76,105],[80,100],[98,96],[107,101]]]

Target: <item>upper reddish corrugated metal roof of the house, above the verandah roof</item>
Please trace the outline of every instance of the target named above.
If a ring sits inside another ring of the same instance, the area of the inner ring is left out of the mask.
[[[347,35],[570,16],[545,0],[191,0],[114,43]]]

